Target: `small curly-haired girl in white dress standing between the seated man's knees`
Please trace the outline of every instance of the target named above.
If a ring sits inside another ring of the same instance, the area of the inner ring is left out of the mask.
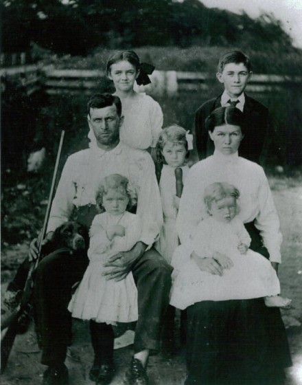
[[[107,362],[113,356],[113,339],[109,338],[113,335],[111,325],[138,318],[137,287],[132,273],[121,281],[104,276],[106,261],[118,252],[130,250],[139,240],[139,217],[127,211],[135,201],[135,189],[126,177],[113,174],[101,181],[96,204],[105,212],[93,219],[88,250],[90,263],[68,307],[73,317],[91,320],[95,353],[90,372],[93,381],[97,380],[101,364],[108,364],[114,371],[113,362]]]

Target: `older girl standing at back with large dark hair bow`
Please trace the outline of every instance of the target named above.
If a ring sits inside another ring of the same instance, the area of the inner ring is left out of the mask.
[[[151,152],[161,133],[163,112],[158,102],[151,96],[137,93],[134,86],[135,81],[138,85],[151,83],[148,74],[154,67],[140,63],[139,56],[133,51],[121,51],[108,59],[106,69],[108,78],[115,85],[114,95],[121,100],[124,115],[121,142]],[[93,133],[89,133],[89,139],[94,142]]]

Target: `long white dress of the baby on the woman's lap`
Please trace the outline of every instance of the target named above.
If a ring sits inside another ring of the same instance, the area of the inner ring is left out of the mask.
[[[240,243],[251,244],[251,238],[240,219],[229,223],[212,217],[201,221],[193,239],[192,248],[180,246],[173,256],[175,269],[170,304],[185,309],[203,300],[237,300],[275,296],[280,293],[279,279],[270,262],[253,250],[240,254]],[[203,272],[193,259],[194,251],[200,257],[209,257],[213,252],[229,256],[233,267],[223,270],[218,276]],[[181,254],[183,263],[181,264]]]

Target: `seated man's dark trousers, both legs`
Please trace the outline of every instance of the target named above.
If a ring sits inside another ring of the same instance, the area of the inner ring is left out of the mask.
[[[71,337],[71,314],[67,310],[71,287],[80,281],[86,265],[86,256],[75,260],[67,252],[49,254],[38,265],[34,305],[43,349],[41,362],[45,365],[65,361]],[[139,307],[135,352],[158,350],[163,316],[169,302],[172,268],[151,249],[135,261],[131,271],[137,285]]]

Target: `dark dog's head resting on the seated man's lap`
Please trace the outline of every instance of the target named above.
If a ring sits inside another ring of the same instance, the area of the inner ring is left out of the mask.
[[[54,232],[51,243],[56,248],[69,248],[73,251],[87,250],[89,246],[89,232],[74,221],[60,225]]]

